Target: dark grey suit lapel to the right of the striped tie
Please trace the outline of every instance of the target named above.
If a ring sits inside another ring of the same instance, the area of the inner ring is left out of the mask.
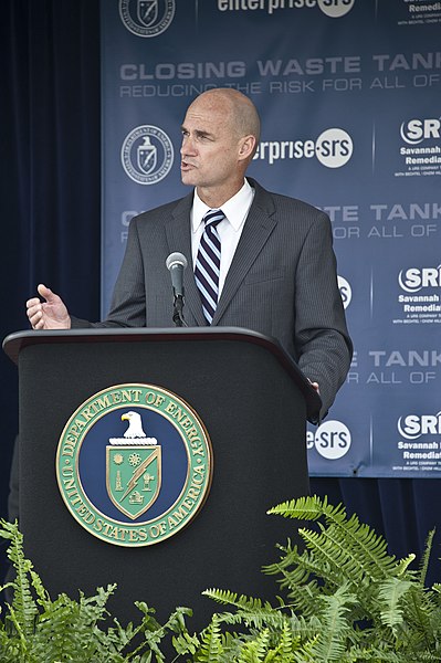
[[[248,179],[250,180],[250,178]],[[274,219],[274,206],[271,197],[253,180],[251,180],[250,183],[252,183],[256,190],[254,200],[243,227],[230,270],[227,274],[225,283],[214,313],[213,325],[217,325],[221,319],[232,297],[276,225]]]

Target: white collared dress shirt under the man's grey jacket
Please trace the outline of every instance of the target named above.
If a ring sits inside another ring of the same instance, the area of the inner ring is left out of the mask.
[[[242,234],[243,225],[245,223],[248,213],[250,211],[251,203],[254,198],[254,189],[245,180],[243,187],[235,196],[227,200],[220,208],[225,214],[225,218],[218,224],[218,233],[221,241],[221,265],[219,275],[219,296],[222,292],[223,284],[228,271],[233,260],[235,250],[239,244],[240,236]],[[191,208],[191,257],[193,261],[193,270],[196,263],[196,256],[198,255],[198,249],[200,239],[202,236],[203,217],[210,210],[204,202],[198,196],[195,189],[193,207]]]

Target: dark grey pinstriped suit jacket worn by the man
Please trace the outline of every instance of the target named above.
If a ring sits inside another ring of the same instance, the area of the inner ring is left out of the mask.
[[[312,381],[327,412],[351,358],[328,217],[300,200],[270,193],[249,178],[255,196],[219,299],[213,325],[276,338]],[[73,327],[170,327],[172,295],[166,257],[179,251],[191,265],[193,194],[132,220],[106,320],[73,318]],[[202,326],[199,292],[185,271],[185,318]]]

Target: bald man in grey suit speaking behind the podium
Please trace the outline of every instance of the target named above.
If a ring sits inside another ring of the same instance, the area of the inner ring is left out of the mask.
[[[28,301],[34,329],[169,327],[174,252],[183,273],[186,324],[239,326],[274,337],[319,391],[324,417],[349,369],[351,341],[337,286],[328,217],[245,178],[259,143],[252,102],[230,88],[202,93],[182,124],[186,198],[134,218],[105,320],[71,317],[40,284]]]

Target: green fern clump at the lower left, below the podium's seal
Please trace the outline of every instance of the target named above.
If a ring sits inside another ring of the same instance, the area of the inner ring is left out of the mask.
[[[13,592],[0,620],[0,663],[154,663],[166,661],[160,649],[169,633],[187,632],[185,619],[191,614],[178,608],[160,625],[154,610],[136,602],[140,611],[137,627],[127,627],[114,619],[112,627],[102,628],[109,617],[106,602],[116,586],[98,588],[94,597],[80,592],[77,601],[66,594],[51,600],[32,562],[24,558],[23,537],[18,525],[0,522],[0,536],[9,539],[8,557],[14,568],[14,579],[1,587]]]

